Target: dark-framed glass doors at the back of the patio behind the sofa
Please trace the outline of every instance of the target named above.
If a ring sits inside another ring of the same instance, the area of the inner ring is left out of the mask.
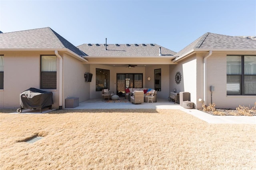
[[[116,94],[124,96],[124,90],[127,88],[142,88],[142,73],[116,73]]]

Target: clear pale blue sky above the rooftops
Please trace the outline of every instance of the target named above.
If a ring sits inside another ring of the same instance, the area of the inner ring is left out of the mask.
[[[0,0],[0,31],[50,27],[83,43],[180,51],[206,32],[256,36],[256,0]]]

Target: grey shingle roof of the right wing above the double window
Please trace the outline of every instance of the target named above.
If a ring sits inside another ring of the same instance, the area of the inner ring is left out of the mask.
[[[256,49],[256,41],[252,38],[225,36],[207,32],[184,49],[176,53],[181,56],[192,49]]]

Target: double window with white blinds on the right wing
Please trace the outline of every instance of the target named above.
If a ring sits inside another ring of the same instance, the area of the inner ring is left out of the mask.
[[[256,56],[227,56],[227,95],[256,95]]]

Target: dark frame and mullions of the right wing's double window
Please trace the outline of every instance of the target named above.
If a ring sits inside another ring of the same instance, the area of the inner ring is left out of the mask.
[[[256,55],[227,55],[227,56],[240,56],[241,57],[241,74],[228,74],[226,73],[226,84],[228,81],[228,76],[232,75],[232,76],[240,76],[240,94],[228,94],[228,91],[226,89],[226,95],[227,96],[254,96],[256,94],[244,94],[244,78],[245,78],[245,74],[244,74],[244,57],[245,56],[255,56]],[[227,64],[226,64],[227,65]],[[252,76],[256,76],[256,74],[252,74]]]

